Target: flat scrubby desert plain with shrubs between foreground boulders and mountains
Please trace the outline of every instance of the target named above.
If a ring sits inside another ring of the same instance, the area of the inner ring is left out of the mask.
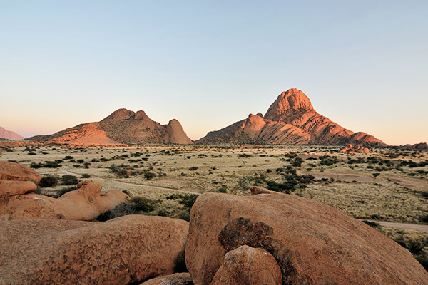
[[[61,191],[73,190],[73,186],[61,185],[63,175],[73,175],[78,180],[101,183],[104,192],[121,190],[156,205],[140,214],[187,220],[191,204],[185,207],[178,197],[197,197],[204,192],[250,195],[250,186],[267,187],[315,199],[365,220],[426,266],[428,152],[402,147],[342,152],[342,148],[9,142],[2,146],[0,160],[19,162],[44,176],[58,177],[58,185],[39,187],[42,195],[55,197]],[[300,180],[302,177],[306,179]]]

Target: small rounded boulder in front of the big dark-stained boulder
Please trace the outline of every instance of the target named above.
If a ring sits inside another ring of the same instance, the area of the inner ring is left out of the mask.
[[[280,266],[265,249],[243,245],[228,252],[210,285],[281,285]]]

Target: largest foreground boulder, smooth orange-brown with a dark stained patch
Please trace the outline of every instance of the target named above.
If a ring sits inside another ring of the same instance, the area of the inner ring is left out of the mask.
[[[428,273],[396,242],[337,209],[295,195],[200,195],[190,213],[186,265],[208,285],[227,252],[263,248],[282,284],[428,284]]]

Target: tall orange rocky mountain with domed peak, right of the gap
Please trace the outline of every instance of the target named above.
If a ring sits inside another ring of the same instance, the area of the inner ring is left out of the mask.
[[[353,133],[320,115],[309,98],[297,89],[282,92],[265,115],[250,114],[245,120],[208,133],[198,142],[386,146],[372,135]]]

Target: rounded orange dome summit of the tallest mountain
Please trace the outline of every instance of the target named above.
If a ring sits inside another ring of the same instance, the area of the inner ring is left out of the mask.
[[[314,110],[309,98],[295,88],[282,92],[266,112],[265,119],[279,121],[290,110]]]

